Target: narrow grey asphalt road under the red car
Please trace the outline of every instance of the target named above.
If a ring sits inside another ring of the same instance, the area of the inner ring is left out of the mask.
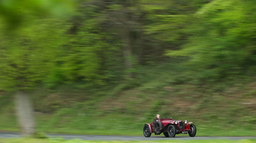
[[[255,137],[201,137],[195,136],[176,136],[175,138],[165,138],[164,136],[151,136],[145,138],[144,136],[101,136],[101,135],[64,135],[64,134],[48,134],[49,138],[64,138],[66,140],[80,139],[80,140],[245,140],[255,139]],[[0,138],[21,138],[18,133],[0,132]]]

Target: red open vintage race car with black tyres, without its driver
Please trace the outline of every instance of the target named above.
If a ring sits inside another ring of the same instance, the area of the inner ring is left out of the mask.
[[[170,119],[167,119],[167,117],[165,119],[160,118],[155,124],[153,122],[145,124],[143,134],[145,137],[150,137],[152,133],[155,133],[155,135],[163,133],[165,137],[170,138],[173,138],[176,134],[189,134],[190,137],[194,137],[197,134],[197,128],[192,123],[194,122],[172,120],[172,117]]]

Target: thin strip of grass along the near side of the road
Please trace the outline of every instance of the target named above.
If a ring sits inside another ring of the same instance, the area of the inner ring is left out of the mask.
[[[61,138],[58,139],[34,139],[34,138],[18,138],[18,139],[0,139],[0,143],[254,143],[256,140],[134,140],[134,141],[124,141],[124,140],[115,140],[115,141],[101,141],[101,140],[63,140]]]

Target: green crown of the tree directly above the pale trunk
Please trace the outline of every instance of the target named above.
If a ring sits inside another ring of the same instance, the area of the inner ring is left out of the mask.
[[[22,28],[16,36],[2,39],[6,41],[1,45],[0,89],[31,89],[45,79],[55,58],[53,53],[61,45],[59,34],[62,30],[49,35],[49,31],[58,26],[50,25],[53,21],[38,21],[30,28]],[[46,27],[48,32],[42,31]],[[59,43],[55,43],[55,40],[59,40]]]

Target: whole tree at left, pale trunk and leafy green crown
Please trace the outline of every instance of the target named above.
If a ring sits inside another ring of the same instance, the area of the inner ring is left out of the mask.
[[[53,53],[62,45],[65,30],[55,16],[67,10],[67,2],[0,1],[0,90],[15,91],[18,122],[26,136],[35,132],[28,91],[53,68]]]

